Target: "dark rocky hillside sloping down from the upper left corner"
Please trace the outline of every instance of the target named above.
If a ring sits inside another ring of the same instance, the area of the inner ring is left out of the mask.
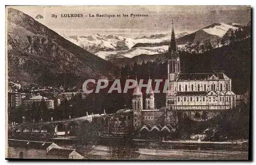
[[[88,78],[118,75],[113,63],[80,48],[27,14],[7,10],[9,81],[50,86],[66,81],[69,86],[81,85]]]

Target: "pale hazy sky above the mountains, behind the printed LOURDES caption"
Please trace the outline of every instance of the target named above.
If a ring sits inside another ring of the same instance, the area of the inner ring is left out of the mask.
[[[65,35],[150,36],[170,32],[172,19],[176,33],[194,32],[215,22],[246,24],[251,19],[249,6],[13,6],[35,18],[48,28]],[[53,18],[52,14],[57,15]],[[61,14],[83,14],[65,18]],[[89,14],[110,14],[115,17],[89,17]],[[121,17],[117,17],[121,14]],[[129,17],[122,17],[127,14]],[[130,17],[147,14],[146,17]],[[87,16],[85,16],[87,15]]]

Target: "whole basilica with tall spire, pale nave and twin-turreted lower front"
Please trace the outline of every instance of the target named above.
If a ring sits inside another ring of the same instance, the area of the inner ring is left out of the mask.
[[[142,92],[136,84],[132,98],[135,128],[141,128],[143,125],[174,127],[178,122],[177,112],[183,112],[194,121],[206,121],[221,111],[236,107],[236,95],[232,91],[231,79],[224,73],[181,73],[174,23],[172,25],[168,49],[166,106],[155,108],[151,86],[146,92],[146,108],[143,109]]]

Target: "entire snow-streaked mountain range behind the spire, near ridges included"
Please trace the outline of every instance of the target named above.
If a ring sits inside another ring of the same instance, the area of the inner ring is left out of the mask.
[[[216,42],[223,37],[229,30],[243,28],[238,23],[213,23],[194,33],[187,32],[176,34],[177,44],[179,48],[184,48],[187,43],[203,43],[209,39]],[[156,34],[151,36],[143,36],[140,38],[127,38],[116,35],[104,36],[93,34],[90,36],[66,36],[61,34],[71,42],[81,46],[96,56],[114,62],[117,65],[124,64],[127,59],[131,59],[139,55],[157,55],[166,53],[168,50],[170,33]],[[140,58],[138,58],[140,59]],[[154,59],[154,57],[153,57]],[[121,63],[120,63],[121,62]]]

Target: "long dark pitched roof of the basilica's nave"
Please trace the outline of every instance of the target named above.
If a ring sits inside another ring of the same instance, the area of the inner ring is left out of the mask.
[[[178,81],[183,80],[208,80],[209,78],[230,80],[224,73],[191,73],[191,74],[179,74]]]

